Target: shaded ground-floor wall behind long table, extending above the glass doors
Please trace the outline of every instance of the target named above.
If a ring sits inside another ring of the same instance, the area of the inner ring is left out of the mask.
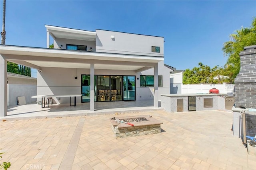
[[[43,67],[42,72],[37,73],[37,95],[44,94],[81,94],[81,75],[89,74],[90,69],[76,68],[52,68]],[[134,71],[130,70],[100,70],[95,69],[95,75],[127,75],[135,76]],[[77,76],[77,79],[75,79]],[[58,81],[56,81],[58,78]],[[69,103],[69,98],[53,98],[59,103]],[[77,98],[77,103],[81,99]]]

